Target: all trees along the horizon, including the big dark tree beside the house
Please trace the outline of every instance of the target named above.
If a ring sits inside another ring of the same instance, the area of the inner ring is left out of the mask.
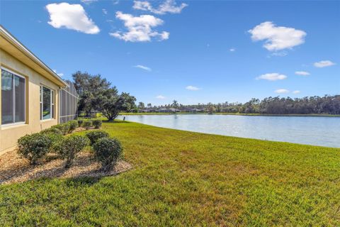
[[[164,109],[174,109],[183,112],[207,113],[240,113],[240,114],[340,114],[340,95],[310,96],[304,98],[268,97],[265,99],[251,99],[242,104],[219,103],[183,105],[174,100],[171,104],[152,106],[139,102],[135,104],[135,96],[129,93],[118,93],[118,89],[111,85],[100,74],[92,75],[87,72],[72,74],[74,87],[79,94],[79,113],[91,116],[92,112],[101,112],[109,121],[113,121],[120,111],[157,112]]]

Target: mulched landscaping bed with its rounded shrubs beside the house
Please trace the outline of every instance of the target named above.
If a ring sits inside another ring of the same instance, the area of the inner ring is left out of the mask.
[[[69,121],[23,136],[16,150],[0,156],[0,184],[42,177],[103,177],[130,170],[130,163],[122,159],[120,141],[99,130],[101,124],[101,120]],[[67,135],[81,131],[87,133]]]

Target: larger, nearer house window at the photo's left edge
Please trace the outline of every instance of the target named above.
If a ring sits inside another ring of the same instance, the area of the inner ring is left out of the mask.
[[[25,122],[25,78],[1,69],[1,124]]]

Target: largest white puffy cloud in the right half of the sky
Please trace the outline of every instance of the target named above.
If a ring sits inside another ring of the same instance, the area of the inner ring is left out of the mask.
[[[266,21],[248,31],[254,41],[265,40],[263,45],[269,51],[293,48],[305,43],[307,33],[295,28],[279,27],[271,21]]]

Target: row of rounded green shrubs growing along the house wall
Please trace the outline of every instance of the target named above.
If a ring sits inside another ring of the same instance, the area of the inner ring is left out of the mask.
[[[91,123],[91,121],[84,121],[80,125],[84,126],[86,122]],[[96,122],[95,128],[101,126],[100,120],[92,122]],[[30,165],[36,165],[47,153],[55,152],[60,158],[66,160],[65,167],[68,168],[72,165],[77,153],[91,145],[95,159],[101,162],[102,170],[111,170],[123,153],[119,140],[109,138],[106,131],[100,130],[86,133],[86,136],[67,135],[67,133],[72,133],[77,126],[79,126],[79,121],[69,121],[52,126],[40,133],[25,135],[18,140],[18,154],[28,159]]]

